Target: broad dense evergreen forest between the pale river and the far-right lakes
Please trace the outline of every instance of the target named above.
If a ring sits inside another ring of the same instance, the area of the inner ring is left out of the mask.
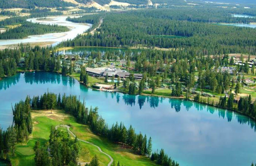
[[[79,35],[72,41],[60,43],[60,46],[127,47],[142,44],[148,47],[191,48],[204,55],[256,53],[256,29],[176,21],[159,18],[159,13],[161,10],[143,10],[68,19],[86,23],[97,22],[100,18],[104,21],[99,34]],[[173,38],[173,35],[178,37]]]

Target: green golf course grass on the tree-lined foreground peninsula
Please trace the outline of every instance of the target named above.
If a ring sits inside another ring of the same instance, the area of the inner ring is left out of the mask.
[[[40,146],[44,145],[49,140],[51,126],[59,124],[70,124],[70,130],[77,135],[77,138],[87,140],[93,144],[99,146],[104,152],[111,155],[114,161],[118,161],[126,166],[153,166],[156,165],[151,162],[149,158],[135,155],[132,150],[122,148],[120,145],[113,144],[106,139],[102,139],[97,135],[94,135],[87,125],[78,124],[73,116],[65,114],[60,110],[51,111],[32,111],[33,118],[33,132],[29,136],[29,140],[26,145],[16,145],[15,155],[10,156],[11,163],[13,166],[33,166],[34,162],[34,151],[33,147],[36,140],[40,141]],[[60,130],[66,130],[60,128]],[[72,137],[73,138],[73,137]],[[100,166],[107,165],[110,159],[99,152],[97,147],[90,144],[80,142],[80,154],[79,162],[89,162],[94,155],[99,158]]]

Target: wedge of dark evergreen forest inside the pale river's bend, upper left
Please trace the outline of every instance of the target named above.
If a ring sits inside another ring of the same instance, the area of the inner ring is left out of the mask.
[[[6,32],[0,34],[0,39],[22,39],[29,35],[66,32],[68,30],[66,26],[25,22],[21,26],[8,29]]]

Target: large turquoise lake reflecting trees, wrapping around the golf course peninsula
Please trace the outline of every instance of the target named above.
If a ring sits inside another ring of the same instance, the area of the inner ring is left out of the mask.
[[[181,166],[248,166],[256,162],[255,123],[227,110],[176,99],[88,89],[55,73],[28,72],[0,81],[0,124],[12,124],[11,103],[47,91],[76,94],[98,106],[108,124],[132,124]]]

